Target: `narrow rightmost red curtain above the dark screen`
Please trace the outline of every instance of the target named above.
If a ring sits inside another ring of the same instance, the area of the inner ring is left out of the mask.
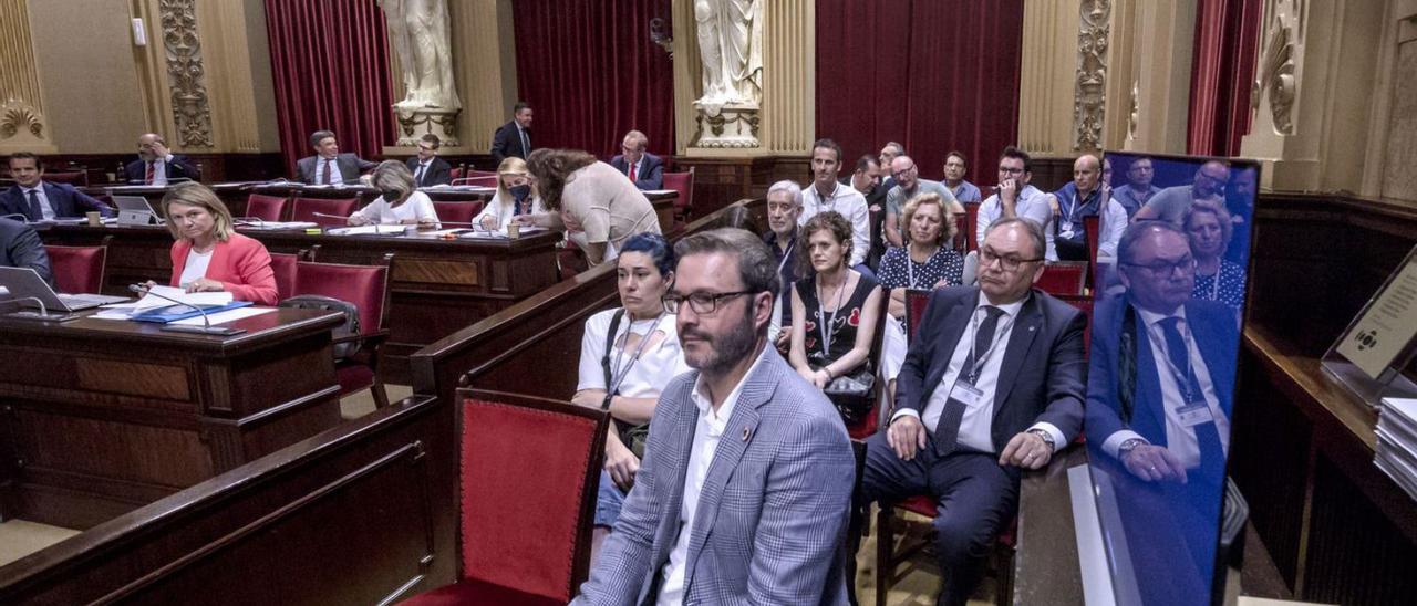
[[[1260,18],[1261,0],[1200,0],[1196,7],[1187,153],[1240,153],[1240,139],[1250,132]]]

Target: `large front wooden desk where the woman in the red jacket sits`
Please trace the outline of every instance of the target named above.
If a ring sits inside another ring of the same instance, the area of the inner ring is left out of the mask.
[[[282,309],[214,337],[0,316],[0,518],[88,528],[333,428],[341,323]]]

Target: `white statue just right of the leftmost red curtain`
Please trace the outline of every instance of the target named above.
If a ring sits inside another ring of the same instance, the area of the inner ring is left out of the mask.
[[[452,79],[448,0],[380,0],[380,6],[407,91],[394,106],[462,108]]]

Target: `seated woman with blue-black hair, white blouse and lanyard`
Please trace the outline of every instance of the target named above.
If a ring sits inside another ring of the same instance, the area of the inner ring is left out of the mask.
[[[635,484],[642,443],[622,435],[643,428],[669,379],[689,370],[674,316],[660,297],[674,282],[674,251],[659,234],[636,234],[615,259],[621,306],[585,320],[581,338],[580,382],[574,404],[609,411],[615,426],[605,438],[605,469],[595,501],[594,554],[619,518],[625,494]],[[606,344],[609,347],[606,347]]]

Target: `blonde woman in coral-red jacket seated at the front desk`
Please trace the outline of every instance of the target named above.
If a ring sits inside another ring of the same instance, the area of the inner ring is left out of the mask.
[[[265,245],[237,234],[231,211],[207,185],[183,183],[163,195],[171,248],[171,286],[188,293],[230,292],[232,299],[276,304],[275,272]]]

